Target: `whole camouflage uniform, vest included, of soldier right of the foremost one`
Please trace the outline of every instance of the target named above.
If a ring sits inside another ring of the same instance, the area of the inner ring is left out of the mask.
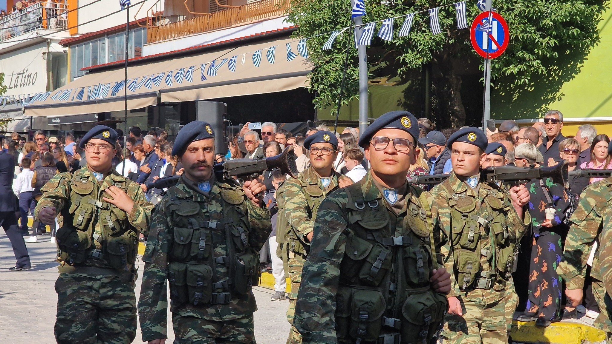
[[[513,255],[528,222],[518,218],[506,192],[493,183],[472,189],[452,172],[431,193],[450,235],[441,249],[452,282],[449,297],[458,298],[463,312],[446,315],[444,342],[508,343],[518,299]]]

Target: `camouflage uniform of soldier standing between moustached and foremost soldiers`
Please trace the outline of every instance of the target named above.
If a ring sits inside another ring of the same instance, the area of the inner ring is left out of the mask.
[[[338,178],[341,174],[334,172],[327,185],[323,186],[321,178],[315,169],[310,166],[301,172],[297,178],[289,178],[283,182],[280,192],[277,192],[278,224],[277,241],[282,252],[285,271],[288,271],[291,279],[291,293],[289,294],[289,309],[287,320],[292,324],[287,343],[299,344],[301,336],[293,326],[293,314],[296,307],[297,291],[302,279],[302,267],[310,243],[306,239],[308,233],[312,232],[315,224],[315,216],[321,201],[338,189]]]

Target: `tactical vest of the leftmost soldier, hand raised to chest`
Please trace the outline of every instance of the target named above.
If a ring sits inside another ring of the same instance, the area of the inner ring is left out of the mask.
[[[67,182],[70,199],[62,210],[64,224],[56,233],[58,260],[68,265],[104,266],[130,271],[136,259],[138,236],[125,211],[98,200],[100,184],[76,172]],[[111,177],[112,178],[112,177]],[[130,181],[115,186],[127,193]],[[102,199],[103,193],[100,195]],[[99,224],[102,235],[94,232]],[[95,248],[94,240],[100,249]]]

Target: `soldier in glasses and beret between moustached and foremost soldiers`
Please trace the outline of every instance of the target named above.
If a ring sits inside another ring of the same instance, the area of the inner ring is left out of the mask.
[[[277,241],[283,262],[291,277],[291,294],[287,320],[293,325],[293,314],[317,210],[323,199],[338,188],[353,181],[335,172],[334,161],[338,155],[338,139],[334,133],[319,130],[308,136],[304,147],[310,153],[310,167],[297,178],[289,178],[277,189],[278,220]],[[287,343],[299,344],[302,338],[292,326]]]

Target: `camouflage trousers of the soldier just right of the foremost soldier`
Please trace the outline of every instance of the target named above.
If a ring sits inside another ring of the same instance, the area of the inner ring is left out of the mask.
[[[443,344],[508,343],[506,301],[516,296],[508,295],[504,290],[474,289],[457,298],[463,316],[446,314]]]

